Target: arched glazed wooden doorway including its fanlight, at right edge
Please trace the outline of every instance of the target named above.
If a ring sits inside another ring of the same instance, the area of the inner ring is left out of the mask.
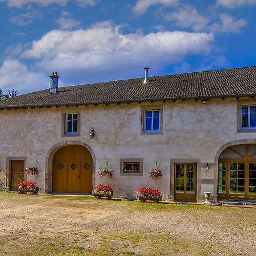
[[[256,200],[256,144],[237,144],[221,152],[218,199]]]

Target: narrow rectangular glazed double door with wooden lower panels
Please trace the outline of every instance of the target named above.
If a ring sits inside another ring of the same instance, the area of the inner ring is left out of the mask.
[[[196,163],[175,163],[174,200],[196,202]]]

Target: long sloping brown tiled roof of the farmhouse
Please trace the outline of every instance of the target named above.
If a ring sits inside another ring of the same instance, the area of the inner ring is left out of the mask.
[[[221,69],[49,89],[0,101],[0,109],[256,96],[256,67]],[[46,85],[47,86],[47,85]]]

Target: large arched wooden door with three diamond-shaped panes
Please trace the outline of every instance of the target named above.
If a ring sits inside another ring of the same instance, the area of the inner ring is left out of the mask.
[[[61,147],[53,156],[52,191],[92,193],[92,155],[81,145]]]

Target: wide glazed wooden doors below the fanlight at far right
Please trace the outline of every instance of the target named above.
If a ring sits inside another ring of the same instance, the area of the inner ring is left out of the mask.
[[[256,162],[219,162],[218,198],[256,200]]]

